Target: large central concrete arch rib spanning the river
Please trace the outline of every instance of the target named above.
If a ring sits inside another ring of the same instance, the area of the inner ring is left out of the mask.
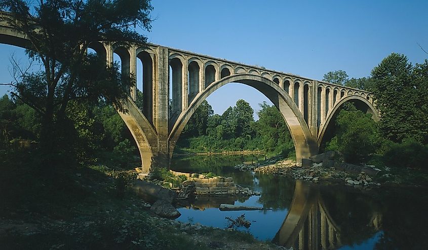
[[[236,74],[225,77],[212,83],[203,92],[200,92],[190,103],[188,109],[183,111],[176,123],[174,124],[169,135],[170,152],[172,153],[175,144],[180,136],[184,126],[189,121],[190,117],[196,111],[198,106],[214,91],[228,83],[242,83],[251,86],[261,93],[263,93],[270,101],[272,101],[282,114],[287,123],[291,136],[294,141],[294,148],[296,150],[296,159],[301,162],[302,158],[308,158],[317,154],[318,147],[302,114],[297,108],[296,104],[291,100],[290,96],[280,88],[275,82],[252,74]]]

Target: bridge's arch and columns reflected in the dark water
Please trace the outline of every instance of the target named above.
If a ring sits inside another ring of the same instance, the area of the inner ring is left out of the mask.
[[[368,226],[380,229],[382,216],[373,211]],[[296,181],[290,210],[274,242],[293,249],[336,249],[342,245],[341,230],[328,212],[319,189]]]

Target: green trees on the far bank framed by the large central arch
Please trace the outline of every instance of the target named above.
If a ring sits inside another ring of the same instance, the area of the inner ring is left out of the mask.
[[[205,100],[184,127],[175,152],[261,151],[269,156],[293,157],[293,141],[281,113],[266,102],[260,108],[259,120],[255,121],[254,111],[245,100],[238,100],[222,115],[214,114]]]

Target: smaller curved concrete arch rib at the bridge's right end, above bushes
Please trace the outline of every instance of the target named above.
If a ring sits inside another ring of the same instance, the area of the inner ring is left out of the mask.
[[[318,133],[318,139],[317,139],[318,147],[320,147],[320,145],[321,145],[324,134],[325,134],[329,124],[331,122],[334,122],[334,121],[332,121],[334,115],[337,113],[337,111],[340,109],[340,107],[343,105],[343,103],[345,103],[347,101],[352,101],[352,100],[358,100],[358,101],[361,101],[362,103],[366,104],[367,108],[368,108],[367,111],[368,111],[368,113],[372,114],[373,120],[379,121],[379,116],[378,116],[376,109],[374,108],[373,104],[370,103],[366,98],[361,97],[359,95],[347,95],[347,96],[343,97],[340,101],[334,103],[333,109],[328,112],[325,123],[320,128],[320,131]]]

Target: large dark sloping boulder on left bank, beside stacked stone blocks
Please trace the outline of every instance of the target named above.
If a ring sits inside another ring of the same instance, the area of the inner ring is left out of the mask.
[[[134,180],[132,187],[138,196],[150,203],[157,200],[166,200],[169,203],[173,203],[177,196],[177,194],[170,189],[142,180]]]

